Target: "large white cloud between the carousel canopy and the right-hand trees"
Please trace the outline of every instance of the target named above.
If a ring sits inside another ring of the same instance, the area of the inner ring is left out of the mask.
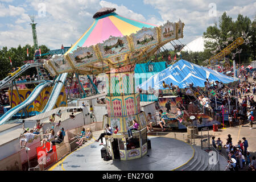
[[[218,22],[218,17],[221,16],[224,11],[227,12],[232,18],[237,18],[238,13],[253,18],[255,15],[256,3],[251,0],[244,1],[214,1],[216,5],[216,17],[209,15],[209,4],[212,0],[144,0],[147,5],[151,5],[158,10],[162,19],[166,22],[177,22],[181,20],[185,23],[184,38],[181,42],[187,44],[193,39],[202,36],[203,32],[207,30],[207,27],[214,22]]]

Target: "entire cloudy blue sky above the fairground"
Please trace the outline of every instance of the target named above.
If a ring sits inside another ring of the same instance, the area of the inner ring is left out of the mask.
[[[213,4],[212,4],[213,3]],[[40,11],[45,7],[46,14]],[[93,14],[102,7],[115,7],[127,18],[161,25],[167,20],[185,23],[184,44],[199,38],[226,11],[233,19],[237,14],[255,17],[253,0],[0,0],[0,47],[33,44],[30,18],[34,14],[39,45],[51,49],[71,46],[93,23]],[[215,8],[216,7],[216,8]],[[214,10],[214,11],[212,11]],[[40,15],[40,16],[39,16]]]

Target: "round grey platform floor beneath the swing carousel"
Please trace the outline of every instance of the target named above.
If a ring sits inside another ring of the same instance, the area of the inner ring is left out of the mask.
[[[79,150],[72,152],[53,169],[67,171],[100,170],[100,171],[169,171],[188,163],[193,158],[191,145],[166,137],[148,137],[151,149],[140,159],[129,161],[109,160],[101,158],[99,143],[85,143]]]

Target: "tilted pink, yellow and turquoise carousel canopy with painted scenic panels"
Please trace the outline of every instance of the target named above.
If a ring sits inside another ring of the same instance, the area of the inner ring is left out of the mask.
[[[125,18],[104,8],[94,14],[94,22],[65,53],[44,62],[51,75],[64,72],[96,74],[139,63],[164,44],[183,38],[184,23],[163,26]]]

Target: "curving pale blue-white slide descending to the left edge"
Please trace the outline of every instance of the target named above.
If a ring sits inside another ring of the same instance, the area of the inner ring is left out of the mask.
[[[51,84],[51,82],[52,81],[44,81],[38,86],[36,86],[36,88],[31,92],[30,96],[28,96],[26,100],[24,100],[22,103],[20,103],[19,105],[16,105],[15,107],[13,107],[12,109],[10,109],[9,111],[7,111],[5,114],[2,115],[2,117],[0,118],[0,125],[7,122],[19,110],[23,109],[24,107],[34,102],[34,100],[39,96],[40,92],[42,92],[42,90],[46,86]]]

